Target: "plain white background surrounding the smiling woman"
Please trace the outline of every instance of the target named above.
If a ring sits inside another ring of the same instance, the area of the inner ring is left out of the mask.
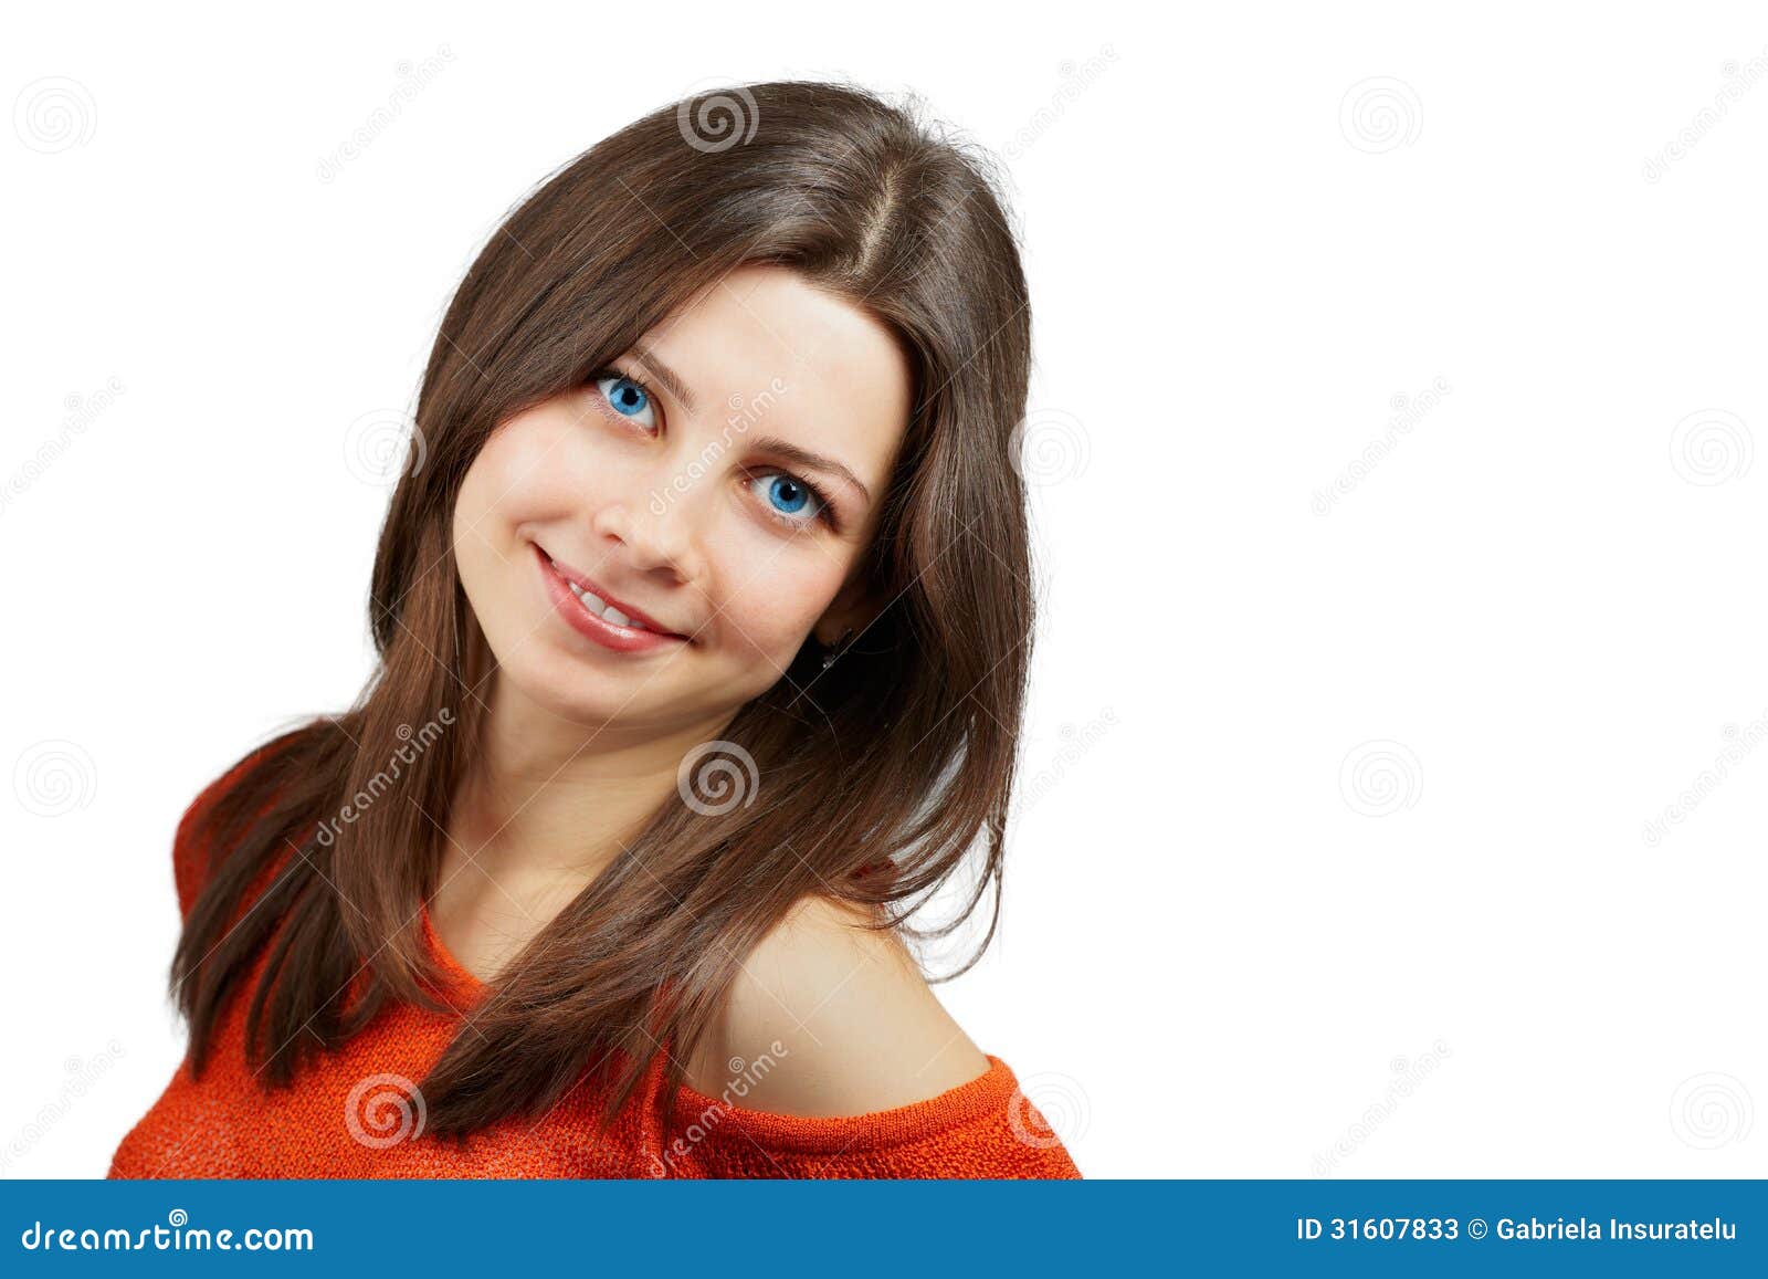
[[[941,991],[1082,1171],[1768,1175],[1764,73],[1747,4],[11,14],[4,1173],[170,1079],[173,824],[368,678],[347,437],[484,237],[799,76],[1011,175],[1045,782]]]

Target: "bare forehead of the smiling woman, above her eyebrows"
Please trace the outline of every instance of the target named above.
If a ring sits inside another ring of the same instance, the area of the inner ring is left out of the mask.
[[[826,453],[882,495],[911,410],[909,361],[882,320],[794,271],[746,265],[644,345],[682,377],[705,421]]]

